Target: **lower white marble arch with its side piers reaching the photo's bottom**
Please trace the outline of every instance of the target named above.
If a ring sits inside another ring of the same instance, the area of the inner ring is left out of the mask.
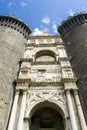
[[[32,115],[37,110],[44,108],[44,107],[49,107],[49,108],[52,108],[52,109],[58,111],[58,113],[62,116],[65,130],[71,129],[69,115],[68,115],[68,111],[67,111],[67,106],[64,105],[63,103],[57,102],[53,99],[41,99],[39,101],[36,101],[33,104],[29,104],[28,108],[26,107],[24,119],[25,119],[25,121],[27,119],[28,125],[26,125],[25,128],[30,130],[29,127],[30,127],[30,124],[31,124]]]

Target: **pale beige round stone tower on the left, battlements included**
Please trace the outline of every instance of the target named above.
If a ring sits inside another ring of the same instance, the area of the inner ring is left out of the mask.
[[[24,43],[31,33],[21,19],[0,15],[0,130],[5,130],[13,100],[13,82],[17,78]]]

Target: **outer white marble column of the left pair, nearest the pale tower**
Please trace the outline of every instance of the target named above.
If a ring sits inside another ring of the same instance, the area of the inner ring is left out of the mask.
[[[17,112],[17,105],[18,105],[18,99],[19,99],[19,91],[16,91],[15,97],[14,97],[14,103],[12,107],[12,112],[10,116],[10,121],[8,125],[8,130],[13,130],[14,127],[14,121],[16,117],[16,112]]]

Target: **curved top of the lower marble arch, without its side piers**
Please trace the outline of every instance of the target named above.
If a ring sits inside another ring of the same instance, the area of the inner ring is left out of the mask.
[[[66,106],[63,105],[61,102],[56,102],[55,100],[52,100],[52,99],[47,99],[47,100],[42,99],[42,100],[36,101],[34,104],[30,104],[28,108],[26,108],[25,118],[31,119],[32,115],[37,110],[44,107],[53,108],[54,110],[58,111],[58,113],[60,113],[60,115],[64,119],[68,117]]]

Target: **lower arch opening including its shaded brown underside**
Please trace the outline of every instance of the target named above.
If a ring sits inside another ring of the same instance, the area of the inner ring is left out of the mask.
[[[51,114],[51,112],[54,115]],[[60,127],[60,130],[65,130],[66,127],[65,126],[66,122],[64,122],[65,117],[66,117],[65,112],[57,104],[50,101],[40,102],[30,110],[29,118],[31,119],[32,122],[30,130],[33,129],[44,130],[45,128],[46,130],[49,129],[56,130],[56,127],[58,128]],[[58,126],[58,122],[60,122],[59,126]],[[36,124],[36,126],[34,126],[35,125],[34,123]],[[38,127],[37,123],[39,123],[39,128],[37,128]]]

